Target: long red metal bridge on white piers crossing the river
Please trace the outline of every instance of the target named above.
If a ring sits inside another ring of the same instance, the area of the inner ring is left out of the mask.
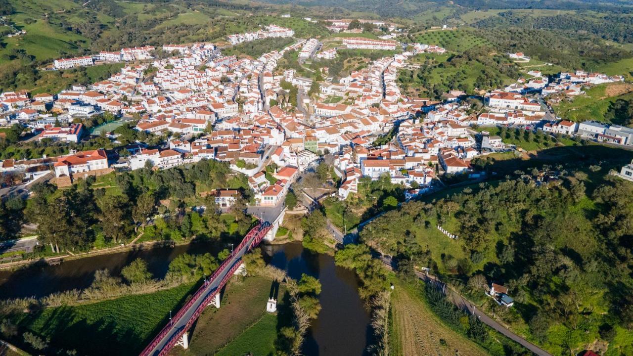
[[[170,319],[170,322],[156,335],[154,340],[147,345],[145,350],[141,352],[141,356],[166,355],[174,345],[183,343],[183,340],[186,347],[188,342],[187,331],[202,314],[204,308],[211,303],[211,300],[215,300],[216,296],[218,296],[217,301],[219,302],[218,293],[242,264],[242,256],[259,245],[271,228],[270,222],[260,222],[253,227],[231,255],[222,262],[222,265],[213,272],[209,279],[204,281],[204,284],[196,291],[189,302],[180,308],[176,315]]]

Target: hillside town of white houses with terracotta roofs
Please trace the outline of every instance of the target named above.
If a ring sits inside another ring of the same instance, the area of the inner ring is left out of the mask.
[[[346,24],[333,23],[341,29]],[[293,35],[291,29],[268,25],[257,32],[229,35],[227,41],[239,44]],[[342,45],[384,51],[404,48],[390,39],[365,37],[345,37]],[[172,54],[166,58],[155,56],[156,48],[144,46],[55,60],[58,69],[105,62],[126,65],[88,87],[73,85],[34,96],[25,91],[3,92],[3,125],[29,127],[39,133],[39,141],[78,143],[91,136],[83,119],[109,113],[120,122],[134,122],[135,130],[149,136],[166,135],[166,143],[137,142],[125,148],[125,156],[97,149],[35,161],[6,160],[2,170],[51,167],[58,186],[68,186],[75,179],[115,169],[165,169],[203,159],[220,160],[247,174],[256,203],[266,206],[277,205],[294,179],[326,154],[334,155],[341,199],[358,192],[361,177],[376,180],[388,175],[392,183],[406,187],[407,198],[412,198],[430,191],[441,176],[476,174],[470,164],[473,158],[506,149],[506,145],[499,137],[482,138],[485,135],[472,127],[538,127],[549,134],[633,144],[633,130],[627,127],[548,121],[548,108],[534,96],[536,92],[539,96],[577,95],[585,86],[622,81],[622,77],[577,71],[560,73],[555,82],[548,82],[541,72],[531,71],[527,79],[486,92],[485,110],[477,114],[467,113],[466,95],[461,91],[446,93],[443,101],[403,95],[396,81],[399,70],[416,54],[446,52],[432,44],[413,44],[410,51],[396,51],[337,80],[325,71],[326,79],[318,83],[316,94],[303,95],[297,108],[280,107],[287,92],[284,83],[305,93],[313,79],[298,77],[294,70],[280,72],[278,61],[292,52],[298,52],[299,60],[337,56],[336,48],[320,48],[317,39],[298,39],[259,58],[238,58],[223,55],[214,44],[165,44],[161,51]],[[519,58],[520,53],[511,57]],[[148,70],[151,75],[146,75]],[[106,136],[117,139],[114,132]],[[388,139],[377,144],[382,137]],[[271,164],[277,181],[265,179],[265,168]]]

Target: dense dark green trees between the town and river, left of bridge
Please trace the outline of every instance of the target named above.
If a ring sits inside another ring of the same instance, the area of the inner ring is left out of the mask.
[[[13,200],[6,203],[0,215],[7,219],[2,224],[7,227],[3,238],[15,238],[20,224],[28,221],[38,224],[41,242],[54,252],[116,245],[137,236],[139,229],[144,239],[180,241],[197,236],[238,241],[251,227],[246,200],[240,199],[230,215],[219,215],[213,198],[199,195],[227,186],[245,188],[245,178],[230,175],[225,163],[214,160],[168,170],[148,167],[88,177],[65,190],[40,184],[34,187],[34,197],[23,214]],[[187,209],[200,204],[208,207],[203,215]],[[161,217],[146,226],[156,213]]]

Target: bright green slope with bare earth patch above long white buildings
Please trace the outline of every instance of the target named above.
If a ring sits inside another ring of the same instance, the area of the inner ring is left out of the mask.
[[[584,95],[559,103],[554,106],[554,110],[556,115],[574,122],[611,122],[607,114],[618,99],[633,99],[633,86],[627,83],[601,84],[587,89]]]

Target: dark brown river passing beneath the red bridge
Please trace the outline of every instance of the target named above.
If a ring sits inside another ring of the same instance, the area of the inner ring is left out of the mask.
[[[94,272],[108,269],[113,275],[136,258],[147,261],[156,278],[165,276],[169,263],[182,253],[206,253],[218,250],[210,243],[192,243],[151,250],[135,250],[110,255],[81,258],[60,265],[36,264],[16,271],[0,271],[0,299],[46,296],[73,288],[87,288]],[[308,329],[303,354],[365,355],[373,341],[370,314],[358,295],[356,274],[337,267],[330,255],[304,250],[300,242],[261,247],[268,264],[284,269],[294,279],[302,274],[317,277],[322,284],[319,301],[322,306]]]

